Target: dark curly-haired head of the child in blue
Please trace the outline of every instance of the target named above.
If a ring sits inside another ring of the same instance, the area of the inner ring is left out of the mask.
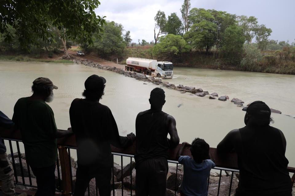
[[[209,144],[205,140],[195,138],[191,143],[191,155],[196,163],[202,163],[203,160],[210,159],[209,157]]]

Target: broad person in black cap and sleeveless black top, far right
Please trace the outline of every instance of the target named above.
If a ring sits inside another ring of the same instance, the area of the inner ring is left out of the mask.
[[[220,153],[238,154],[240,179],[235,195],[291,196],[286,139],[281,130],[269,126],[270,108],[254,101],[242,110],[246,126],[230,131],[217,145]]]

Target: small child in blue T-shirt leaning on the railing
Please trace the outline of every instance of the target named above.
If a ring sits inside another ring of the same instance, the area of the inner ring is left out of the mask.
[[[190,146],[191,155],[181,156],[183,149]],[[181,196],[206,196],[208,195],[207,182],[210,170],[215,164],[209,157],[209,144],[205,140],[195,138],[189,144],[183,142],[176,158],[183,164],[183,181],[181,185]]]

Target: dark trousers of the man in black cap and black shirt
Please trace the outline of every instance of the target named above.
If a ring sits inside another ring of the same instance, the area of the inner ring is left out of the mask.
[[[78,164],[76,171],[76,184],[74,196],[84,196],[85,191],[92,178],[96,180],[96,186],[100,196],[111,195],[112,167],[92,165],[85,166]]]

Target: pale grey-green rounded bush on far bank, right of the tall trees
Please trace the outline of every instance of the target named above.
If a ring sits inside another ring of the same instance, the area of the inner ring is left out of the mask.
[[[241,61],[241,67],[245,71],[255,71],[255,67],[262,61],[260,50],[254,46],[245,46],[245,57]]]

